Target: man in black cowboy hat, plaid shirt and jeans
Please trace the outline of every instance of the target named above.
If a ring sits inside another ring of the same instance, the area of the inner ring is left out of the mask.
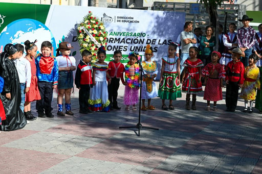
[[[249,18],[247,15],[243,15],[242,19],[238,19],[243,23],[243,27],[237,30],[237,43],[242,52],[245,52],[245,57],[242,58],[242,62],[245,67],[248,66],[248,58],[252,54],[252,47],[255,44],[256,31],[249,26],[249,22],[253,18]]]

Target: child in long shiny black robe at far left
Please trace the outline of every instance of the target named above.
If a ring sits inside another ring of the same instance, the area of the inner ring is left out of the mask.
[[[0,98],[6,113],[6,119],[0,125],[1,131],[22,129],[27,124],[26,117],[20,109],[20,82],[13,61],[16,58],[16,47],[11,43],[7,44],[4,47],[4,52],[0,54],[0,76],[4,79],[4,88]]]

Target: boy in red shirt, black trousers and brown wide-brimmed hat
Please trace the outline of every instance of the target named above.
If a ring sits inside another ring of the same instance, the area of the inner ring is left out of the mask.
[[[234,48],[230,51],[232,54],[232,61],[230,61],[226,68],[226,106],[227,110],[234,112],[237,105],[238,89],[244,83],[245,66],[240,61],[241,56],[245,55],[240,48]]]

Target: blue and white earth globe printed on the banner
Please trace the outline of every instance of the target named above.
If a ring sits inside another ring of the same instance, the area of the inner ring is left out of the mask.
[[[55,38],[49,28],[38,20],[28,18],[18,19],[9,23],[1,32],[0,40],[0,53],[4,51],[6,44],[24,44],[26,40],[30,42],[37,40],[35,43],[38,48],[37,53],[39,53],[43,41],[50,41],[53,45],[53,50],[57,48]]]

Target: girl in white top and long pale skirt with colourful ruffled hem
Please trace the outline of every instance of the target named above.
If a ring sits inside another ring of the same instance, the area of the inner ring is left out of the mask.
[[[108,64],[105,60],[105,47],[101,46],[97,52],[98,61],[93,65],[93,88],[90,91],[90,98],[88,100],[89,109],[92,111],[110,111],[110,101],[108,100],[107,84],[111,83],[111,77],[107,73]]]

